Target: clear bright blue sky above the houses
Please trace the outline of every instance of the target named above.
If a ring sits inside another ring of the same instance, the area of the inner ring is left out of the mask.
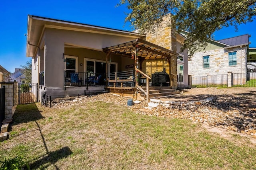
[[[28,14],[59,20],[87,23],[131,31],[124,23],[125,6],[115,7],[119,0],[3,0],[0,4],[0,65],[14,72],[31,58],[26,57]],[[256,47],[256,20],[214,33],[215,39],[250,34],[250,47]]]

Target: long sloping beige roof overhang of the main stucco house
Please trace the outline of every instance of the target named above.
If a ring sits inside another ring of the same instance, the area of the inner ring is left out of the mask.
[[[27,42],[35,46],[40,46],[41,39],[46,28],[65,29],[72,31],[82,31],[89,33],[100,33],[107,35],[117,35],[123,37],[138,38],[144,37],[144,34],[134,33],[130,31],[123,31],[119,29],[111,29],[107,27],[100,27],[84,23],[76,23],[70,21],[56,20],[51,18],[44,18],[39,16],[28,15],[28,29],[27,29]],[[37,52],[37,47],[28,45],[26,48],[26,56],[34,57]]]

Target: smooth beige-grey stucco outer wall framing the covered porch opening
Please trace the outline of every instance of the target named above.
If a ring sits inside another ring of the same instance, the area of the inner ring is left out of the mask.
[[[104,47],[133,40],[132,37],[86,33],[61,29],[45,29],[45,85],[46,87],[63,87],[65,54],[64,44],[72,44],[88,49],[102,50]],[[67,55],[67,54],[65,54]],[[74,54],[72,54],[74,55]],[[79,54],[78,54],[79,55]],[[104,58],[105,60],[105,58]],[[112,61],[115,60],[113,57]],[[81,62],[80,59],[78,62]],[[119,66],[118,66],[119,67]],[[79,68],[81,69],[81,68]],[[118,68],[120,70],[120,68]]]

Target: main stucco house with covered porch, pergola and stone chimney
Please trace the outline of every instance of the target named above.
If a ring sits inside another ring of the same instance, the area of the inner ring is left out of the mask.
[[[32,83],[39,83],[39,96],[105,89],[136,96],[140,89],[148,98],[149,90],[141,87],[148,88],[156,72],[168,73],[164,85],[172,89],[177,80],[187,84],[187,55],[176,52],[175,36],[167,25],[144,35],[29,15],[26,56],[32,57]]]

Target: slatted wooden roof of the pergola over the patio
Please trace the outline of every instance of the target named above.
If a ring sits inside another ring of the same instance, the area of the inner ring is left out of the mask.
[[[179,53],[160,47],[159,45],[150,43],[143,39],[135,39],[126,43],[106,47],[103,48],[103,51],[105,53],[131,57],[132,55],[135,55],[136,49],[138,49],[137,56],[143,57],[144,59],[158,59],[179,55]]]

